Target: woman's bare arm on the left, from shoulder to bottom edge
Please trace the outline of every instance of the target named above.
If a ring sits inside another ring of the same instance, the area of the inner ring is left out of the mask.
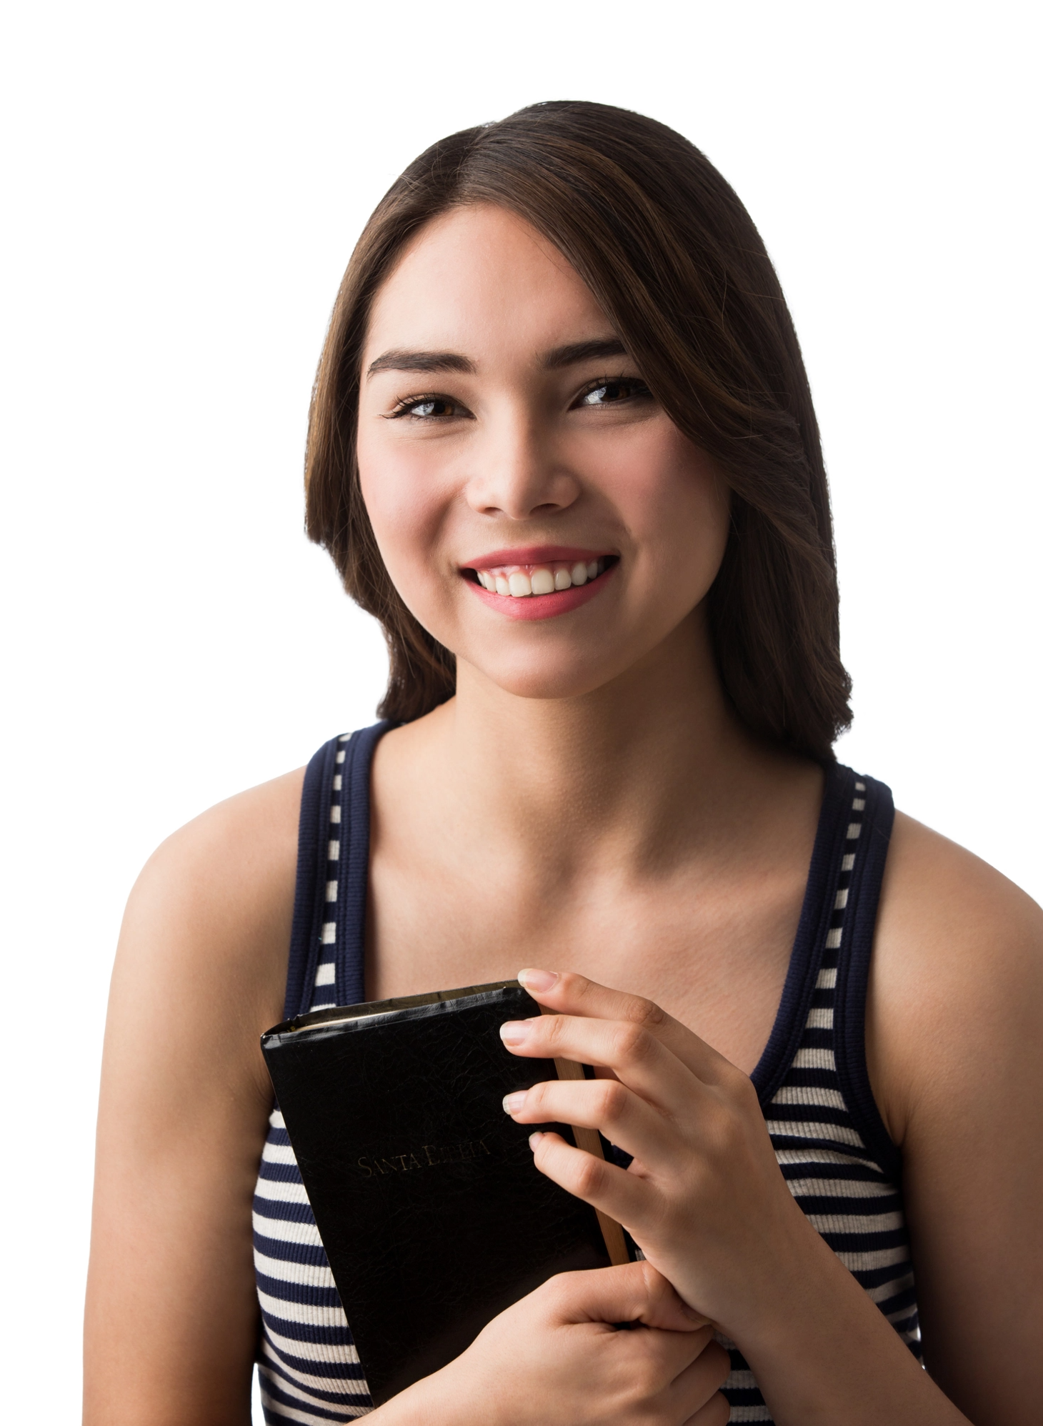
[[[250,1419],[250,1202],[271,1107],[302,774],[223,803],[138,878],[106,1022],[87,1426]]]

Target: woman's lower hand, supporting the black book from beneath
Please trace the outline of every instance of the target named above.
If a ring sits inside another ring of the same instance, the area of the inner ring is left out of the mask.
[[[619,1332],[612,1323],[643,1323]],[[646,1262],[551,1278],[455,1362],[374,1412],[381,1426],[723,1426],[713,1329]]]

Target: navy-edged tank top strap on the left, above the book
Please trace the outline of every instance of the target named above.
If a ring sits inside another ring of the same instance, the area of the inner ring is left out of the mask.
[[[365,995],[370,767],[394,724],[330,739],[304,774],[285,1017]]]

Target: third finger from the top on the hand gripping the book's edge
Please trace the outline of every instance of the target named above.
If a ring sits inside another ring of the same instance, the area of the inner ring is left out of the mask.
[[[598,1129],[649,1169],[676,1159],[669,1121],[621,1079],[546,1079],[504,1099],[515,1124],[571,1124]]]

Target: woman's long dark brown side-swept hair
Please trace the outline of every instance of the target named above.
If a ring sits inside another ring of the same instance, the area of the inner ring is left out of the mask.
[[[709,593],[725,690],[755,733],[832,759],[850,723],[819,428],[782,288],[749,214],[665,124],[606,104],[534,104],[434,144],[381,200],[341,282],[315,378],[307,528],[381,622],[384,717],[452,696],[455,659],[388,578],[355,461],[360,364],[374,294],[404,244],[461,204],[526,220],[594,292],[675,425],[732,491]]]

